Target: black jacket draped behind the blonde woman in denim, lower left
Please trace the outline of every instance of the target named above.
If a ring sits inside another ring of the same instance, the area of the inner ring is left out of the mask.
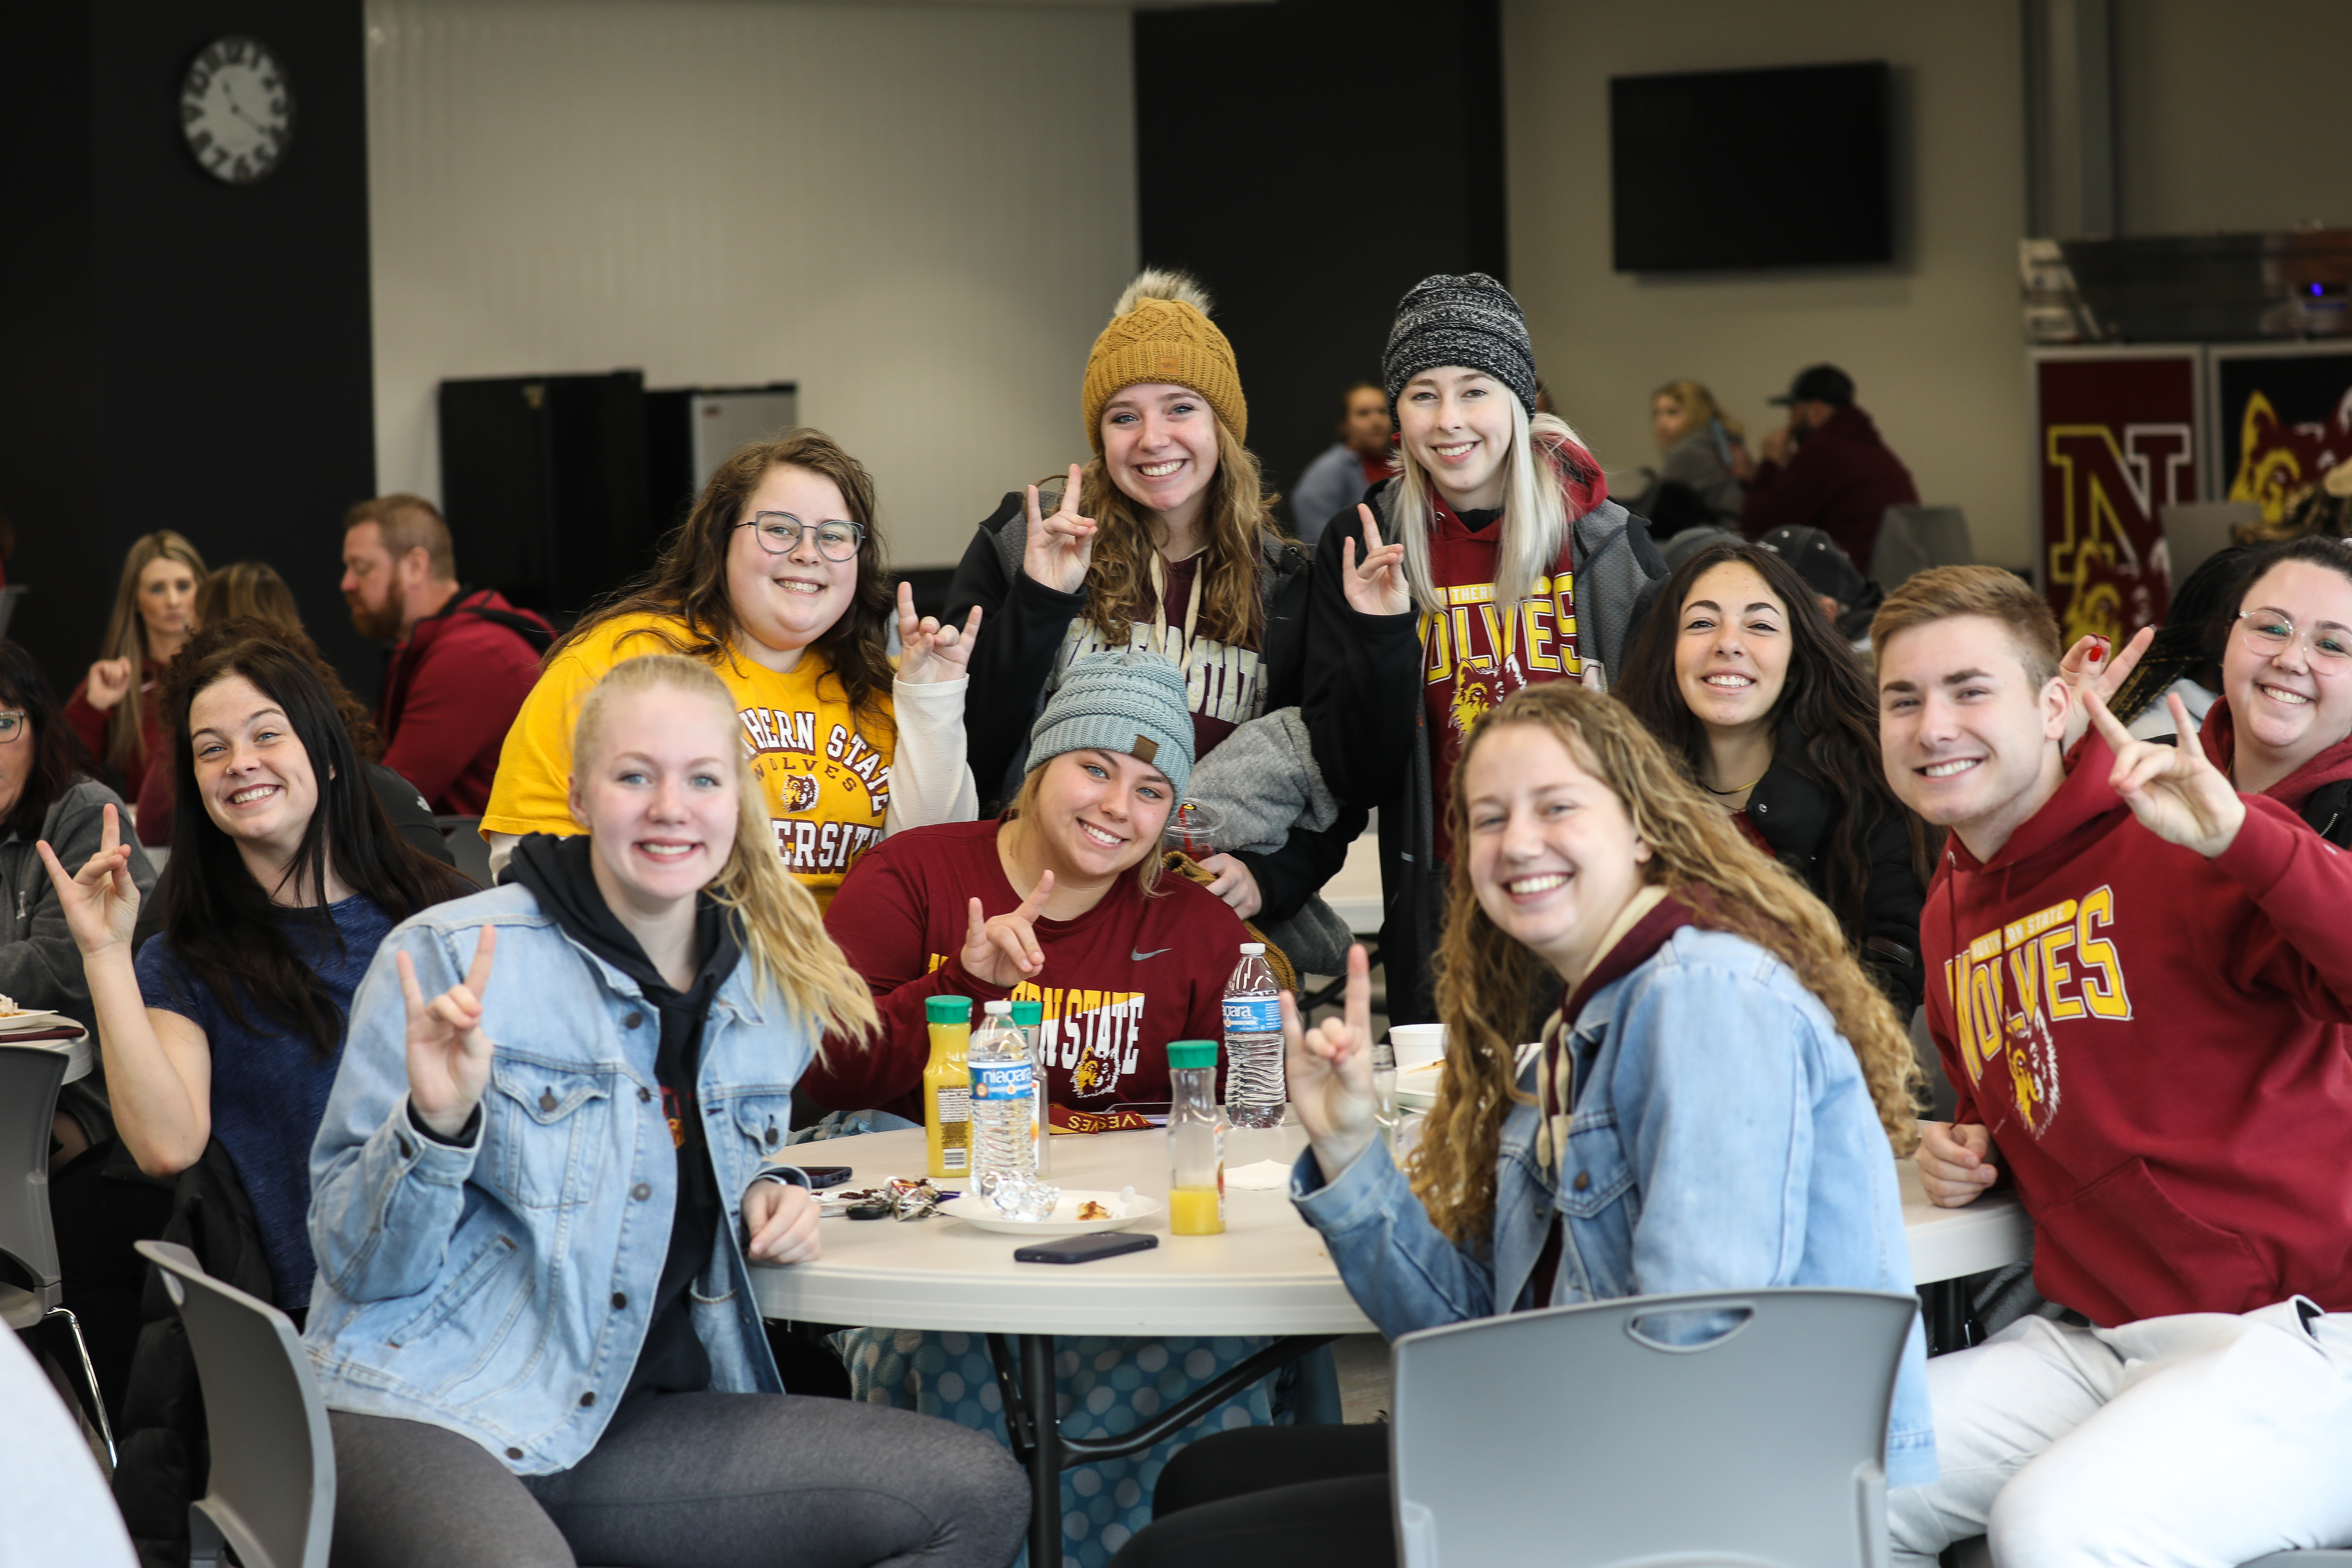
[[[162,1239],[195,1253],[214,1279],[275,1300],[254,1206],[219,1138],[179,1173]],[[186,1568],[188,1505],[205,1495],[212,1448],[205,1441],[195,1352],[155,1269],[148,1272],[141,1316],[146,1324],[122,1392],[122,1432],[115,1434],[115,1507],[139,1549],[139,1568]]]

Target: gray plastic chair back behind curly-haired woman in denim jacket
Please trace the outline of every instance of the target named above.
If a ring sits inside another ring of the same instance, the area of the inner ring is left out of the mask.
[[[1917,1309],[1879,1291],[1712,1291],[1409,1333],[1399,1561],[1884,1568],[1886,1413]],[[1661,1314],[1689,1312],[1733,1328],[1656,1338]],[[1571,1413],[1590,1434],[1573,1450]]]

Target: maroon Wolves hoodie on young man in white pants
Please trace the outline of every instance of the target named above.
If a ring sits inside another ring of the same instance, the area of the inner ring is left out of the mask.
[[[2206,860],[2143,827],[2091,733],[1919,940],[1957,1121],[2034,1220],[2034,1284],[2093,1324],[2352,1309],[2352,858],[2270,797]]]

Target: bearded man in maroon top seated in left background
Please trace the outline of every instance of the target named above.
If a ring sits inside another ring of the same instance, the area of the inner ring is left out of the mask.
[[[555,628],[456,581],[449,524],[423,496],[343,515],[343,599],[362,637],[393,644],[376,701],[383,766],[445,816],[480,816],[506,731]]]

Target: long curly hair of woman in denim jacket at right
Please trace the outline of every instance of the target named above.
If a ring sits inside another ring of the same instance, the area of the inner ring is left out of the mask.
[[[1896,1154],[1919,1145],[1915,1086],[1919,1063],[1886,994],[1863,973],[1837,922],[1788,870],[1764,858],[1708,802],[1616,698],[1576,682],[1545,682],[1510,693],[1479,719],[1463,745],[1456,780],[1468,776],[1479,743],[1505,724],[1552,733],[1581,769],[1616,792],[1649,844],[1644,882],[1698,912],[1712,931],[1731,931],[1797,973],[1853,1046]],[[1454,842],[1470,842],[1470,792],[1446,806]],[[1414,1192],[1454,1241],[1486,1234],[1494,1215],[1494,1161],[1503,1117],[1526,1103],[1517,1088],[1517,1046],[1526,997],[1545,964],[1503,933],[1470,884],[1470,856],[1454,858],[1446,933],[1437,952],[1437,1016],[1446,1025],[1446,1067],[1437,1105],[1414,1154]],[[1740,1041],[1724,1041],[1738,1051]]]

